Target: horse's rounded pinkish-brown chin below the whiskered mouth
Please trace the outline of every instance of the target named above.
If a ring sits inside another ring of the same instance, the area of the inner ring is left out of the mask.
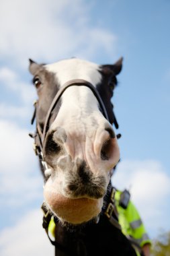
[[[101,212],[103,199],[77,198],[71,199],[56,193],[44,190],[44,198],[50,210],[62,223],[83,224],[89,222]]]

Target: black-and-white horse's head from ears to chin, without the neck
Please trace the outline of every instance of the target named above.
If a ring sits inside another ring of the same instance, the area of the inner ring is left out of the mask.
[[[121,68],[122,59],[114,65],[30,60],[38,137],[48,166],[44,198],[61,222],[81,224],[101,212],[110,170],[120,158],[111,98]]]

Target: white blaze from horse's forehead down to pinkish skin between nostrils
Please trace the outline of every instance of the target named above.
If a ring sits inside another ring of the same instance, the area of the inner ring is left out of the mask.
[[[54,73],[61,87],[72,79],[85,79],[97,86],[102,78],[99,65],[80,59],[67,59],[45,67]],[[107,121],[99,111],[97,98],[90,88],[75,84],[65,90],[61,100],[60,110],[50,130],[56,131],[57,127],[65,129],[65,150],[73,160],[85,160],[92,172],[108,171],[113,160],[107,162],[108,166],[101,160],[101,146],[105,141],[103,135],[99,135],[105,131]]]

